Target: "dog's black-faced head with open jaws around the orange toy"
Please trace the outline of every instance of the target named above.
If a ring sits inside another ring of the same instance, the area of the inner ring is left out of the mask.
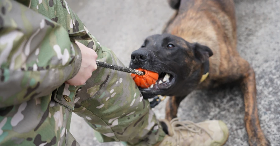
[[[197,86],[202,64],[212,55],[207,46],[171,34],[157,34],[147,37],[141,48],[131,54],[129,67],[159,74],[152,88],[139,88],[144,98],[186,96]]]

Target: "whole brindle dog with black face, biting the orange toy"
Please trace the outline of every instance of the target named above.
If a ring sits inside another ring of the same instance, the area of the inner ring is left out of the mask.
[[[163,34],[145,39],[131,54],[130,68],[159,74],[156,84],[139,88],[144,98],[170,96],[166,119],[177,117],[180,102],[193,90],[238,83],[245,103],[250,146],[269,146],[258,117],[254,69],[236,50],[233,0],[168,0],[174,15]]]

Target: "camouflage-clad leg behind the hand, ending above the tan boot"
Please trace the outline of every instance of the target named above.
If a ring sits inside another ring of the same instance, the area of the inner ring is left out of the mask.
[[[41,6],[48,7],[47,13],[46,8]],[[69,33],[87,31],[63,0],[43,0],[41,3],[32,1],[31,9],[63,25]],[[101,46],[93,36],[90,40],[79,42],[94,49],[98,60],[124,66],[110,49]],[[98,67],[85,85],[63,85],[57,93],[55,99],[58,102],[65,103],[63,96],[74,101],[74,112],[84,117],[93,129],[102,133],[102,137],[106,136],[106,141],[110,139],[129,144],[152,145],[165,136],[149,102],[143,99],[128,73]],[[72,102],[65,104],[72,107]]]

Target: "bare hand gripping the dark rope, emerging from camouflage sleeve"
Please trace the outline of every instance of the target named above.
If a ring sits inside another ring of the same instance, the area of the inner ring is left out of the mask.
[[[86,83],[91,77],[93,71],[97,69],[96,58],[97,54],[91,48],[87,48],[85,45],[79,42],[75,42],[79,46],[82,53],[82,63],[80,70],[77,75],[75,75],[72,79],[67,80],[65,83],[70,85],[79,86]]]

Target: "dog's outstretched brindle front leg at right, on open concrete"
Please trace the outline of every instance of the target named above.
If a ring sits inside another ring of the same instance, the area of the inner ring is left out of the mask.
[[[250,68],[248,72],[245,73],[245,76],[241,82],[241,90],[244,94],[244,121],[249,136],[250,146],[270,146],[270,142],[265,137],[259,124],[256,99],[257,90],[253,68]]]

